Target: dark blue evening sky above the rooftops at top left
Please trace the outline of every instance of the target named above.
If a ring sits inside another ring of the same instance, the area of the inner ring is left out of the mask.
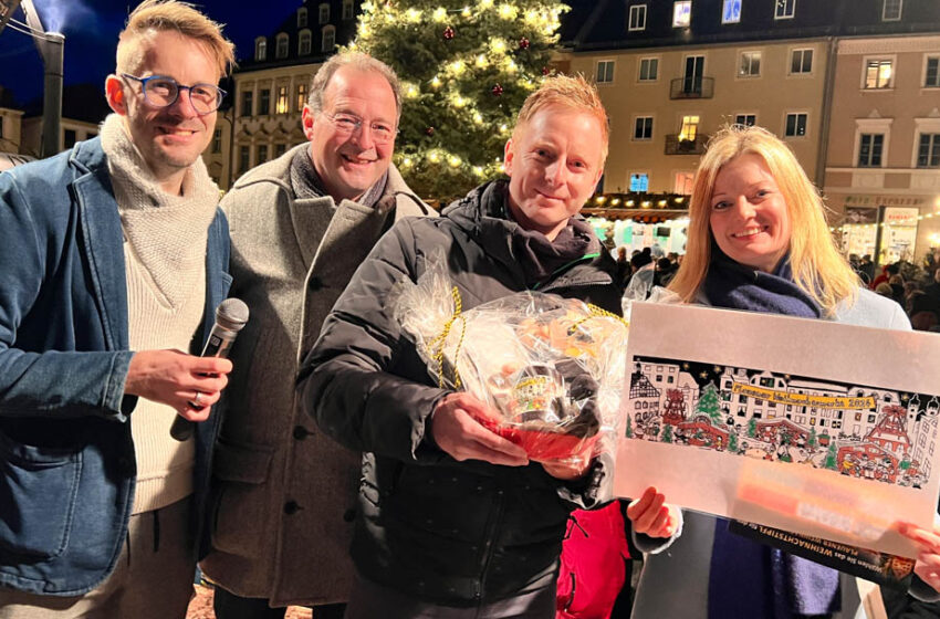
[[[65,34],[65,83],[93,82],[102,85],[114,69],[117,33],[127,13],[139,0],[33,0],[46,30]],[[301,0],[194,0],[206,14],[226,24],[224,33],[239,56],[251,52],[259,34],[269,34]],[[247,7],[260,6],[253,13]],[[22,11],[14,15],[23,20]],[[42,94],[42,61],[32,39],[9,27],[0,32],[0,86],[13,91],[24,104]]]

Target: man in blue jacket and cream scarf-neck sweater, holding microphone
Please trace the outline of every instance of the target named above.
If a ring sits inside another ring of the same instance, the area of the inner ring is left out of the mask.
[[[232,52],[145,1],[101,137],[0,175],[0,618],[186,616],[215,423],[169,429],[231,370],[194,353],[231,282],[200,154]]]

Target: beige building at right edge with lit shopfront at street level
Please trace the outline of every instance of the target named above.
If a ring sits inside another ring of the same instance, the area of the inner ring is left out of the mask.
[[[940,246],[940,34],[838,41],[824,190],[876,264]]]

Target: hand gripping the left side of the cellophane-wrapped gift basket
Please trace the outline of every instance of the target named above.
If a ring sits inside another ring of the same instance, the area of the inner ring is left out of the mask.
[[[482,460],[506,466],[529,464],[525,450],[481,423],[498,422],[500,416],[470,394],[447,395],[431,416],[435,442],[455,460]]]

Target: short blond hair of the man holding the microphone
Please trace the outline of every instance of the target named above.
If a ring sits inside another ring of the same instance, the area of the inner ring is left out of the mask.
[[[144,61],[142,39],[157,32],[176,31],[202,44],[216,61],[219,76],[234,65],[234,45],[222,35],[222,25],[200,13],[188,2],[144,0],[130,12],[117,40],[117,72],[133,73]]]

